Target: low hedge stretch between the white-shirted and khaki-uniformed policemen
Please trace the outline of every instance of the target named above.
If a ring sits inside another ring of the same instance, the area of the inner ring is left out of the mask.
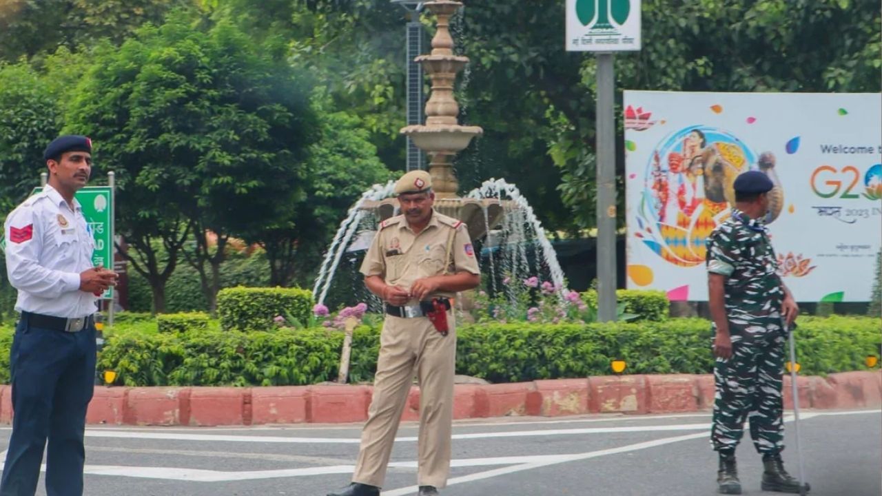
[[[121,335],[98,366],[125,386],[306,385],[337,378],[342,345],[343,333],[324,329]],[[373,378],[378,346],[377,330],[355,329],[350,382]]]

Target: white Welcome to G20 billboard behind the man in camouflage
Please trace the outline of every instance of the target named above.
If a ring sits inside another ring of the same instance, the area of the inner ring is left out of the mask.
[[[882,95],[624,92],[627,285],[706,301],[705,241],[737,174],[772,192],[797,301],[868,301],[882,244]]]

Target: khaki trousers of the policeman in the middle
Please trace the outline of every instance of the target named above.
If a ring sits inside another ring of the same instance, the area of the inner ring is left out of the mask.
[[[447,485],[456,362],[452,312],[447,312],[447,320],[451,330],[445,336],[438,333],[426,317],[385,316],[374,394],[362,432],[353,482],[383,486],[392,443],[416,372],[420,385],[417,483],[437,488]]]

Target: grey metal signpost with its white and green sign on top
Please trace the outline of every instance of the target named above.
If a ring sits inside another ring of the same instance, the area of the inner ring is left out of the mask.
[[[616,319],[616,51],[640,49],[640,0],[566,0],[567,51],[597,55],[597,317]]]

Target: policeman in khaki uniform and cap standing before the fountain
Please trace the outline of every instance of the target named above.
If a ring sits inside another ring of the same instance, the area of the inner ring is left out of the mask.
[[[352,484],[328,496],[376,496],[414,373],[420,384],[420,496],[437,494],[450,471],[456,330],[451,298],[481,273],[466,225],[438,214],[423,170],[395,184],[403,214],[380,225],[362,264],[364,283],[385,302],[373,401]]]

